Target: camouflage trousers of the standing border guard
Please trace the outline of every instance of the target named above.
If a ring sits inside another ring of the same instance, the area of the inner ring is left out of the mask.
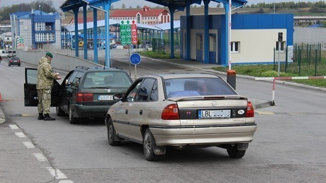
[[[39,104],[37,105],[38,112],[44,112],[44,114],[50,113],[51,92],[49,92],[49,89],[38,89],[37,97],[39,99]]]

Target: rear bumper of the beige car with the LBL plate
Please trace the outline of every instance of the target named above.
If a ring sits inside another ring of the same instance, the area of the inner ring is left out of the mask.
[[[218,145],[251,142],[256,124],[222,127],[158,127],[150,126],[157,146],[166,145]]]

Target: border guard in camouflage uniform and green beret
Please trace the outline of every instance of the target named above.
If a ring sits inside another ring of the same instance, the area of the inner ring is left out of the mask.
[[[49,116],[51,106],[51,88],[53,85],[53,80],[59,80],[61,77],[59,76],[59,73],[53,73],[50,65],[52,58],[52,53],[47,52],[45,56],[39,60],[39,67],[37,69],[36,89],[37,97],[39,99],[39,103],[37,105],[39,120],[56,120],[56,118]]]

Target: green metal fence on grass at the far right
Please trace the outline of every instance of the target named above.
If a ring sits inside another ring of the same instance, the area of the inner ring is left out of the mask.
[[[293,45],[293,62],[289,62],[288,49],[280,52],[280,71],[297,75],[317,76],[324,75],[326,69],[326,51],[322,51],[321,44],[295,44]],[[278,52],[274,49],[274,70],[278,62]]]

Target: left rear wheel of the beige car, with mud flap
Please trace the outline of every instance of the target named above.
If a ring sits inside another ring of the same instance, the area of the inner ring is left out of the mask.
[[[147,161],[158,161],[162,158],[162,155],[156,155],[154,153],[154,138],[152,136],[151,131],[146,129],[144,138],[143,138],[143,148],[144,148],[144,155]]]

